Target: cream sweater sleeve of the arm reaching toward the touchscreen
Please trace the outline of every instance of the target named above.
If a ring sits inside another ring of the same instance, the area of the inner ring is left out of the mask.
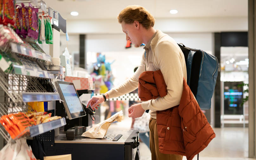
[[[112,88],[111,90],[106,92],[109,95],[109,98],[119,97],[121,95],[130,93],[130,92],[134,91],[135,89],[137,89],[139,76],[144,71],[145,71],[145,57],[144,57],[144,52],[143,52],[141,63],[139,65],[138,69],[136,70],[136,72],[133,74],[132,77],[130,77],[124,83],[122,83],[121,85],[119,85],[115,88]]]

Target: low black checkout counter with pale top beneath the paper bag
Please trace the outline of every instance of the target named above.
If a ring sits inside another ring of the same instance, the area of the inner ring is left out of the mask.
[[[109,130],[107,135],[122,134],[118,141],[109,138],[66,140],[65,134],[55,137],[53,146],[45,145],[46,156],[71,154],[72,160],[139,160],[137,130]],[[106,135],[106,136],[107,136]]]

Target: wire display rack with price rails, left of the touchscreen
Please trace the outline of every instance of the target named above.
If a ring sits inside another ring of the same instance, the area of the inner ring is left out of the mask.
[[[58,11],[47,7],[42,0],[39,5],[37,0],[19,0],[15,4],[18,3],[33,3],[34,7],[53,18],[52,25],[55,30],[58,28],[66,33],[66,19],[62,18]],[[53,39],[58,36],[59,31],[56,33],[53,30]],[[63,79],[63,71],[46,69],[52,62],[51,57],[59,57],[59,51],[53,49],[54,45],[58,46],[60,42],[53,41],[54,44],[49,47],[50,55],[48,55],[33,40],[21,39],[24,43],[9,41],[0,47],[0,117],[10,113],[33,111],[28,102],[61,100],[53,81],[58,78]],[[54,56],[55,54],[58,56]],[[65,118],[30,126],[13,139],[34,137],[63,125],[66,125]],[[10,139],[10,135],[2,125],[0,125],[0,134],[6,141]]]

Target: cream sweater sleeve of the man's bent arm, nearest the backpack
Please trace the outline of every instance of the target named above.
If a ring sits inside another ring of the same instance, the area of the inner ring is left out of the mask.
[[[163,74],[167,95],[142,102],[144,110],[162,111],[179,105],[183,91],[183,75],[186,74],[183,73],[186,71],[182,71],[185,59],[180,52],[179,48],[169,41],[157,44],[155,48],[156,65]]]

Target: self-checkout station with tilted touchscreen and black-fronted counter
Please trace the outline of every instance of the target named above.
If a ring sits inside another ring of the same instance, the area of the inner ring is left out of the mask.
[[[71,102],[69,100],[70,99],[77,100],[77,97],[74,97],[76,96],[74,93],[72,93],[73,98],[68,97],[71,95],[71,93],[65,93],[65,91],[68,91],[68,92],[75,91],[77,96],[79,96],[79,94],[73,88],[74,85],[72,83],[61,82],[61,81],[58,81],[58,82],[59,84],[57,84],[56,82],[56,87],[58,89],[58,92],[60,93],[60,96],[63,102],[59,103],[58,101],[56,101],[55,115],[65,117],[67,125],[60,128],[59,134],[58,133],[55,134],[55,131],[51,130],[42,135],[41,140],[44,142],[43,148],[46,153],[46,156],[71,154],[72,160],[83,160],[83,159],[84,160],[110,160],[110,159],[111,160],[139,160],[140,159],[139,148],[138,148],[139,132],[137,130],[109,129],[107,131],[106,136],[100,139],[86,138],[80,135],[74,136],[74,138],[70,138],[70,137],[67,138],[66,136],[67,131],[69,133],[72,133],[70,132],[71,130],[68,130],[71,127],[74,127],[74,126],[91,127],[92,118],[90,114],[92,113],[76,108],[76,111],[79,111],[79,114],[77,112],[74,114],[73,109],[70,108],[70,105],[74,104],[74,102]],[[65,85],[67,85],[67,87]],[[80,91],[80,94],[82,94],[81,91]],[[83,105],[83,108],[85,108],[84,105]],[[86,115],[84,115],[83,112],[85,112]],[[83,128],[82,131],[79,131],[79,132],[82,133],[84,132],[84,130],[85,128]]]

